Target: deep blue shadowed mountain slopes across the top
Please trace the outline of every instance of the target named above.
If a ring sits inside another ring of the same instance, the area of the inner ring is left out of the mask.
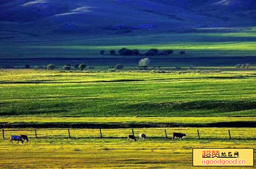
[[[253,26],[256,20],[254,0],[2,0],[0,8],[0,27],[44,33],[148,23],[162,29]]]

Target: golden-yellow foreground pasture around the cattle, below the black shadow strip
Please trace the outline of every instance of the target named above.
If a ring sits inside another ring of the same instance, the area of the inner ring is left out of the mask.
[[[131,134],[129,129],[102,130],[103,136],[123,138],[97,138],[99,131],[91,129],[71,129],[72,138],[67,138],[67,130],[40,129],[39,138],[35,138],[33,129],[8,129],[7,135],[26,133],[31,138],[24,145],[0,139],[0,167],[192,168],[193,148],[256,148],[255,129],[232,128],[233,139],[228,139],[227,128],[201,128],[202,139],[197,138],[197,128],[167,128],[168,134],[173,131],[184,132],[187,137],[175,141],[148,138],[128,143],[124,137]],[[140,132],[148,137],[164,137],[163,128],[135,129],[136,136]]]

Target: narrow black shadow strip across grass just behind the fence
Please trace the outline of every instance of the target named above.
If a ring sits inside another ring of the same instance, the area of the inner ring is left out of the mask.
[[[154,127],[256,127],[255,121],[218,123],[0,123],[0,128],[154,128]]]

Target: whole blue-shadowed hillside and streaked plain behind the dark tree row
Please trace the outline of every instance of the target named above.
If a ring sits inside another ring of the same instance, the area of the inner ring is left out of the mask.
[[[2,0],[0,9],[0,58],[90,57],[121,47],[255,55],[254,0]]]

